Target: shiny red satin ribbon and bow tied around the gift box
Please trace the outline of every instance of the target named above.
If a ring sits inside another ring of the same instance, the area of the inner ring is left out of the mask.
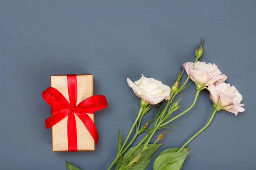
[[[77,151],[77,133],[75,114],[81,119],[87,127],[95,144],[97,145],[99,135],[92,119],[87,113],[94,114],[107,107],[107,99],[103,95],[90,96],[76,105],[77,100],[77,81],[76,74],[67,75],[67,88],[70,103],[57,89],[49,87],[42,92],[42,97],[52,107],[52,116],[45,119],[47,129],[54,126],[62,119],[67,117],[67,141],[68,151]]]

